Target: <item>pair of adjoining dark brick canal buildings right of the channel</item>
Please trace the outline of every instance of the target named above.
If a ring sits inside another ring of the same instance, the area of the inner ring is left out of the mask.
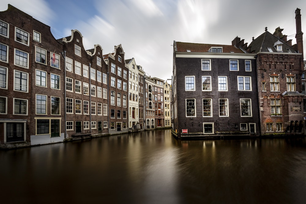
[[[303,135],[306,67],[300,9],[295,21],[295,45],[279,27],[273,34],[266,27],[249,46],[238,36],[231,45],[174,41],[173,134]]]

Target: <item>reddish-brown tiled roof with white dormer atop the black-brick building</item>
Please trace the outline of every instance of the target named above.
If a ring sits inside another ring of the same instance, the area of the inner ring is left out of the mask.
[[[177,52],[208,52],[211,47],[222,47],[223,53],[244,53],[241,49],[233,45],[201,44],[201,43],[183,43],[176,42]]]

